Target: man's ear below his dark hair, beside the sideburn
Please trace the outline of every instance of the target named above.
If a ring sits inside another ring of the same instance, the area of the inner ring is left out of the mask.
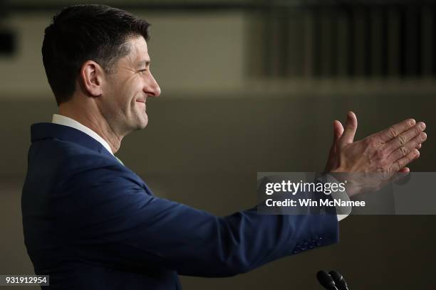
[[[91,97],[98,97],[102,94],[102,85],[105,71],[93,60],[86,60],[83,63],[79,74],[79,84],[84,92]]]

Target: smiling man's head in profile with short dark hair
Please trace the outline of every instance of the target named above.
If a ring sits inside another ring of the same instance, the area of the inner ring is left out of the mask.
[[[145,100],[160,95],[149,68],[149,26],[103,5],[71,6],[54,16],[42,54],[58,105],[90,102],[114,131],[145,127]]]

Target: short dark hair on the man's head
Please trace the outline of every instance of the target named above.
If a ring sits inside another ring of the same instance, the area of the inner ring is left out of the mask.
[[[48,83],[56,102],[67,102],[86,60],[113,73],[117,60],[130,53],[129,38],[150,38],[150,23],[105,5],[75,5],[63,9],[46,28],[42,55]]]

